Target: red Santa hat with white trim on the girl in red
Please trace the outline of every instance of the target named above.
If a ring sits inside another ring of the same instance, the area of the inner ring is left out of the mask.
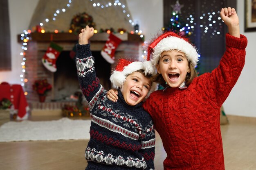
[[[180,50],[181,52],[184,52],[186,58],[191,62],[193,67],[195,68],[197,65],[197,49],[189,42],[188,39],[181,37],[172,31],[168,31],[160,35],[148,46],[148,60],[151,59],[153,65],[156,65],[160,58],[160,54],[169,50]]]

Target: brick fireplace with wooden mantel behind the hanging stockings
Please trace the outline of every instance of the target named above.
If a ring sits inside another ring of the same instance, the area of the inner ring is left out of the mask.
[[[76,74],[76,65],[69,55],[77,42],[77,36],[72,33],[51,34],[52,33],[32,33],[32,41],[29,41],[27,45],[25,78],[28,79],[28,82],[25,84],[25,91],[28,92],[27,100],[30,103],[39,101],[38,94],[36,94],[32,88],[32,84],[38,79],[46,78],[47,81],[53,85],[52,91],[50,91],[46,97],[46,102],[68,101],[70,95],[80,90]],[[116,36],[118,36],[122,42],[115,52],[116,62],[114,64],[108,63],[100,54],[108,36],[107,33],[98,33],[95,34],[90,41],[92,55],[95,58],[94,66],[96,74],[105,89],[111,88],[109,77],[118,59],[122,57],[137,61],[143,60],[140,57],[143,52],[143,41],[139,35],[129,33],[121,35],[118,33]],[[63,47],[63,51],[56,61],[56,72],[47,70],[41,61],[51,39],[56,44]]]

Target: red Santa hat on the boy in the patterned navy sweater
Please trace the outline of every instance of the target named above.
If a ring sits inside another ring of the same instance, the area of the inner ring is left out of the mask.
[[[155,69],[151,63],[151,61],[128,61],[126,59],[120,59],[119,63],[116,66],[116,69],[113,71],[110,76],[110,81],[112,83],[112,87],[115,89],[119,89],[122,87],[124,82],[126,81],[126,77],[133,72],[138,70],[144,70],[145,75],[154,75]],[[156,89],[156,83],[153,83],[150,88],[150,93]]]

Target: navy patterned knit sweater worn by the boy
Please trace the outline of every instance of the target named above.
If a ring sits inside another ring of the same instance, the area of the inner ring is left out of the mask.
[[[90,44],[76,45],[76,49],[79,83],[92,118],[86,169],[153,170],[155,132],[150,115],[142,103],[126,104],[120,91],[117,102],[108,100],[96,77]]]

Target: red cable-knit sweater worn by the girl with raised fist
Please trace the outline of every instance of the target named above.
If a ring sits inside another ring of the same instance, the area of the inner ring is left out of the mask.
[[[211,73],[195,78],[186,89],[153,92],[143,104],[162,138],[164,169],[224,170],[220,107],[245,64],[247,38],[226,35],[226,52]]]

